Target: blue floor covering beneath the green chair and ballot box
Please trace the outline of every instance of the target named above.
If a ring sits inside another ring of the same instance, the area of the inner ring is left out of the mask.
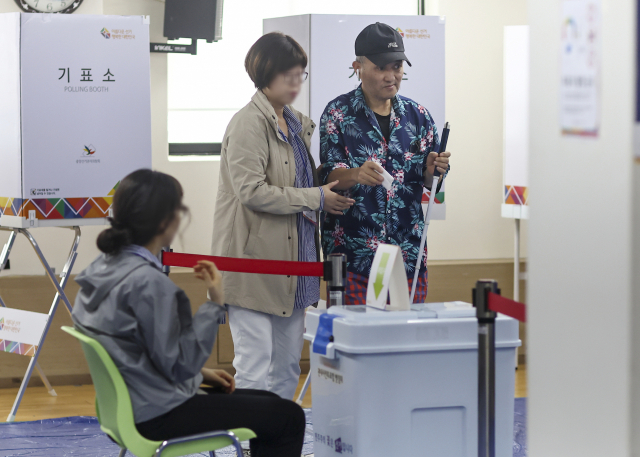
[[[313,454],[311,410],[305,410],[307,430],[303,455]],[[513,457],[527,455],[527,403],[516,398]],[[33,422],[0,424],[0,457],[9,456],[117,456],[118,446],[100,431],[95,417],[63,417]],[[131,454],[127,453],[127,456]],[[208,454],[194,454],[207,456]],[[216,451],[216,456],[235,456],[232,448]]]

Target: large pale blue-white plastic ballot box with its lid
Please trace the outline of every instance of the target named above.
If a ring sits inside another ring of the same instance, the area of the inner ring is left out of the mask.
[[[477,457],[478,323],[462,302],[310,309],[314,455]],[[512,457],[518,322],[496,320],[496,456]]]

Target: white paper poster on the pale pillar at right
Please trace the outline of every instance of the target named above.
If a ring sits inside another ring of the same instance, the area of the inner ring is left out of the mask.
[[[600,127],[599,0],[564,0],[560,40],[560,123],[564,135],[597,137]]]

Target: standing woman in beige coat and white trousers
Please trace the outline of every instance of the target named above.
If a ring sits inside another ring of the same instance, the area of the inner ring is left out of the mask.
[[[308,74],[302,47],[282,33],[261,37],[245,59],[257,91],[222,142],[212,254],[318,261],[319,212],[354,201],[319,186],[309,154],[315,122],[291,103]],[[226,272],[238,388],[291,399],[300,376],[304,312],[318,302],[319,278]]]

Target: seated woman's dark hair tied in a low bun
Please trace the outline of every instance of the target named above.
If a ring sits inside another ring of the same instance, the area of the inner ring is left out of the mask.
[[[166,229],[176,211],[188,211],[182,196],[173,176],[147,169],[129,174],[113,196],[111,228],[98,236],[98,249],[117,254],[130,244],[145,246]]]

